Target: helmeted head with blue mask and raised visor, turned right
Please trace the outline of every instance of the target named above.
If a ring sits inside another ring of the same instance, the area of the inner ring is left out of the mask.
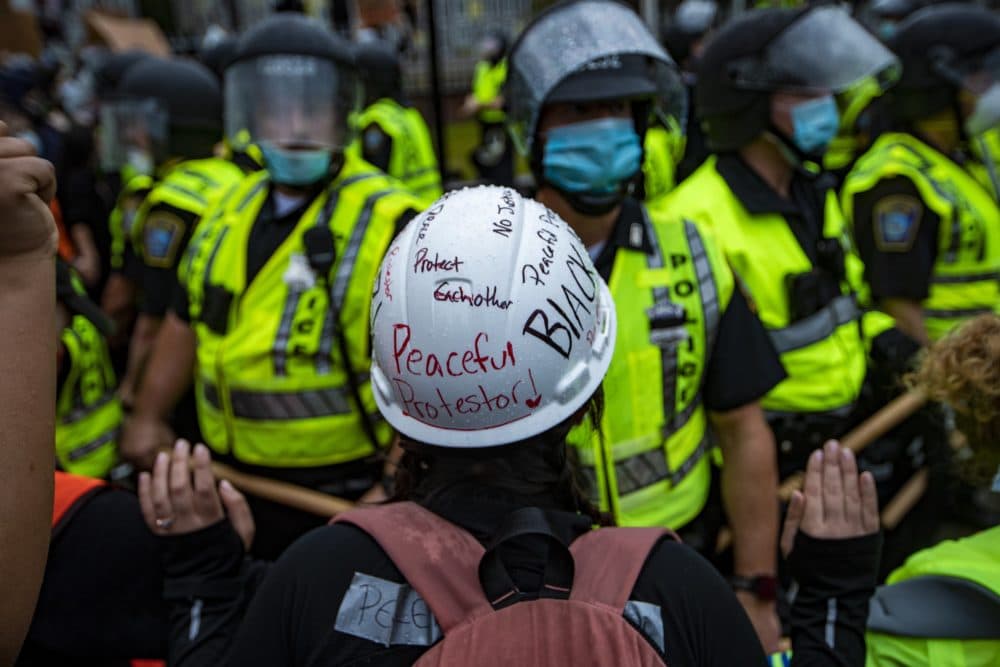
[[[896,79],[892,53],[832,5],[749,12],[719,30],[697,69],[695,113],[713,151],[761,138],[818,160]]]

